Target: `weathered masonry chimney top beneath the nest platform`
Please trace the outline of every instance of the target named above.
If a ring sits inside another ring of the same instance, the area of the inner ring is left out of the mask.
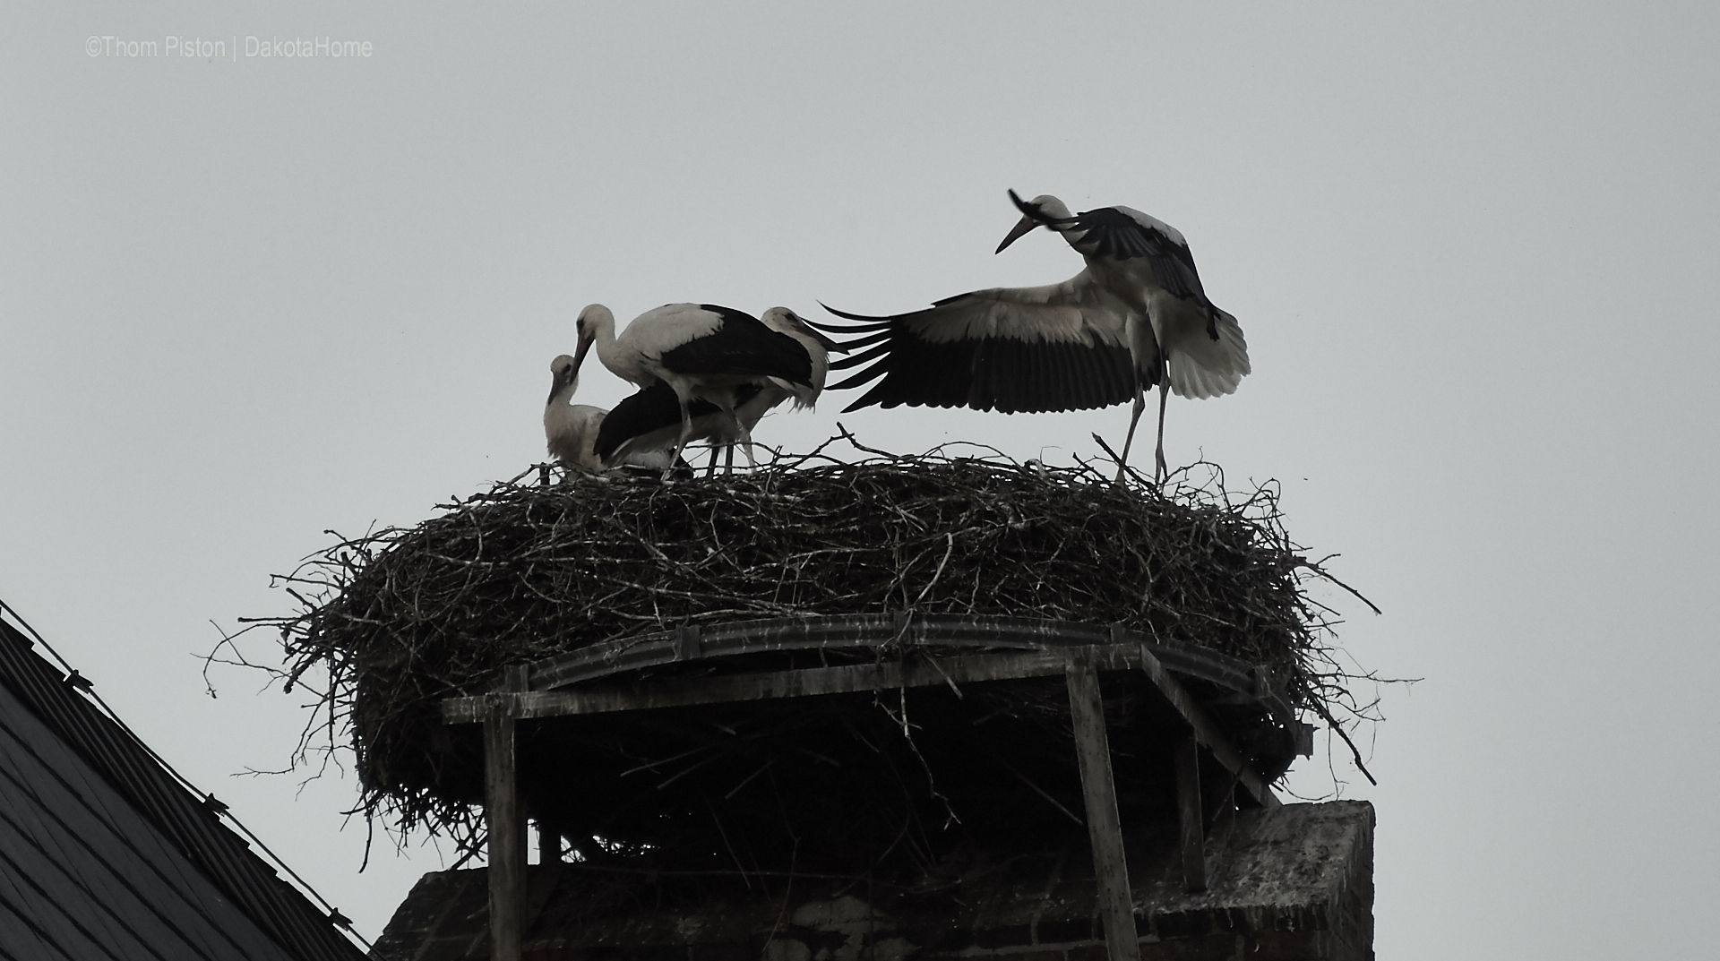
[[[1135,927],[1137,935],[1146,935],[1139,944],[1140,961],[1367,961],[1374,894],[1371,810],[1342,801],[1244,811],[1237,818],[1252,827],[1233,829],[1225,836],[1228,841],[1211,841],[1221,849],[1228,844],[1221,860],[1240,865],[1235,878],[1223,882],[1228,894],[1221,899],[1187,894],[1175,870],[1146,868],[1152,858],[1135,858],[1132,851],[1130,863],[1140,872],[1133,878],[1140,903]],[[1170,837],[1159,853],[1171,866],[1180,856],[1173,842]],[[1072,863],[1080,856],[1084,851],[1073,849]],[[1342,863],[1333,865],[1333,858]],[[593,909],[593,894],[605,896],[616,882],[607,875],[564,872],[549,906],[528,928],[526,959],[759,961],[769,932],[781,942],[776,961],[814,961],[855,944],[862,958],[877,952],[915,954],[920,961],[1109,961],[1099,920],[1090,915],[1090,880],[1044,878],[1037,873],[1044,863],[1034,863],[1035,872],[1020,868],[1029,865],[1022,860],[1015,865],[1020,870],[1008,875],[975,875],[925,896],[881,894],[875,908],[848,904],[829,892],[802,894],[796,887],[805,903],[791,908],[808,913],[786,925],[779,904],[760,906],[755,892],[743,887],[717,885],[679,909],[662,904],[650,909],[650,897]],[[1316,866],[1321,870],[1314,872]],[[1340,866],[1342,872],[1331,870]],[[1336,875],[1342,875],[1336,884],[1311,880]],[[390,944],[411,947],[404,956],[420,961],[487,956],[485,872],[447,872],[432,880],[437,884],[423,882],[415,897],[425,891],[433,904],[402,906],[390,925]],[[1030,916],[1039,916],[1032,939],[1017,923]],[[693,944],[697,939],[710,940]]]

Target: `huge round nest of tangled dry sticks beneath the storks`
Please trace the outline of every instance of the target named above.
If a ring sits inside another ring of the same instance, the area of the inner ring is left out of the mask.
[[[466,848],[482,834],[476,731],[442,725],[442,698],[488,689],[507,664],[679,624],[900,610],[1121,622],[1262,665],[1328,720],[1354,707],[1328,657],[1330,610],[1304,591],[1324,571],[1287,536],[1271,487],[1230,497],[1216,469],[1163,490],[943,454],[814,454],[671,483],[540,474],[342,540],[286,578],[301,610],[263,619],[289,688],[322,688],[310,731],[325,748],[351,736],[361,808],[396,829]],[[588,858],[685,849],[683,866],[741,870],[807,870],[815,823],[836,825],[826,848],[863,837],[863,856],[831,870],[888,851],[931,861],[958,823],[1068,827],[1080,794],[1061,681],[1011,684],[961,710],[939,689],[526,725],[526,806]],[[1120,684],[1106,688],[1113,725],[1137,707]],[[937,725],[965,734],[941,741]],[[1146,780],[1120,770],[1125,818],[1159,803]]]

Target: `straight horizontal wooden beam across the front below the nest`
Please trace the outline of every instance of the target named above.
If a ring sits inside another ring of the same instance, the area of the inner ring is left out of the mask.
[[[912,662],[851,664],[843,667],[807,667],[764,674],[728,674],[717,677],[654,681],[648,686],[590,686],[564,691],[525,691],[518,695],[483,695],[447,698],[442,720],[471,724],[483,720],[485,705],[499,698],[511,705],[518,719],[564,717],[576,713],[611,713],[662,707],[759,701],[814,695],[848,695],[924,688],[929,684],[968,684],[1013,677],[1047,677],[1063,672],[1065,662],[1082,653],[1099,670],[1128,670],[1139,664],[1135,645],[1096,645],[1089,648],[1035,650],[1010,653],[968,653],[961,657]]]

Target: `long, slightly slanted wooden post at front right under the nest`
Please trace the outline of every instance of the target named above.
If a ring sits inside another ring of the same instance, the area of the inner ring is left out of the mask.
[[[1092,844],[1092,872],[1099,882],[1106,952],[1109,961],[1140,961],[1128,863],[1123,860],[1123,823],[1116,813],[1116,780],[1111,775],[1111,743],[1104,734],[1099,672],[1092,660],[1077,657],[1070,660],[1063,677],[1070,689],[1075,756],[1080,760],[1082,793],[1087,798],[1087,839]]]

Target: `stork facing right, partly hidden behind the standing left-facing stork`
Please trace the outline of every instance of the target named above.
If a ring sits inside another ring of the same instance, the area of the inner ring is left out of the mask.
[[[777,334],[793,337],[812,361],[810,390],[793,382],[769,378],[764,383],[743,383],[734,387],[729,401],[734,418],[722,416],[722,411],[703,399],[693,399],[688,406],[691,414],[691,432],[688,442],[709,440],[710,462],[705,474],[716,473],[717,447],[726,450],[724,469],[734,469],[734,445],[750,444],[750,437],[759,421],[777,404],[795,399],[796,407],[810,407],[817,402],[829,371],[827,349],[836,347],[829,337],[807,325],[788,308],[771,308],[759,318]],[[839,347],[838,347],[839,349]],[[648,450],[667,450],[681,435],[679,404],[667,383],[659,382],[643,389],[633,397],[616,404],[602,425],[597,437],[595,452],[605,462],[616,457],[636,456]],[[752,456],[748,454],[748,461]]]

